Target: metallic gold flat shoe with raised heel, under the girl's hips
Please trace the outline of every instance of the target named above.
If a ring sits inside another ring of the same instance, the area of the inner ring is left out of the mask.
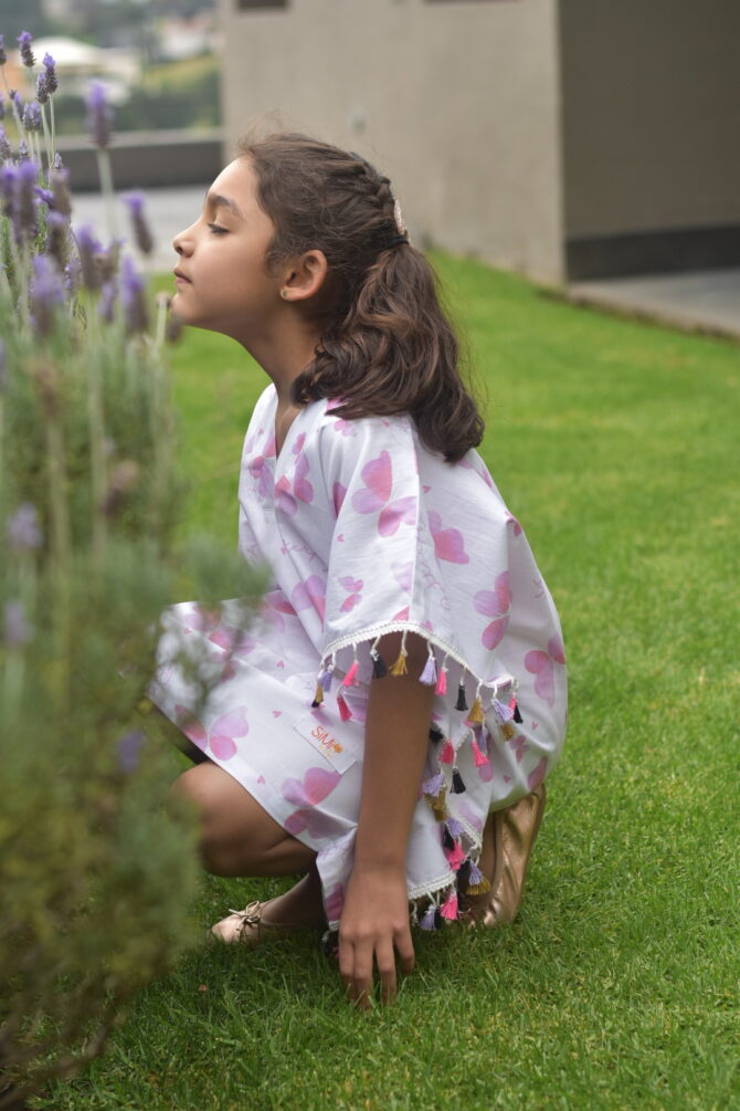
[[[470,925],[507,925],[519,913],[527,864],[543,821],[547,791],[541,783],[518,802],[494,812],[494,879],[490,891],[468,898]]]

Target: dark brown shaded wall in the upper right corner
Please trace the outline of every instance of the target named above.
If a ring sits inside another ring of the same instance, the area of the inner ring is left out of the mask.
[[[716,241],[727,256],[740,226],[737,0],[560,0],[559,36],[567,239],[660,233],[679,254]]]

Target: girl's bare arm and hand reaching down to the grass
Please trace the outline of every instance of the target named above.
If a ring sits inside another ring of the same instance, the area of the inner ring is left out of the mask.
[[[369,1005],[373,965],[383,999],[396,993],[394,945],[404,972],[414,967],[408,920],[406,851],[429,740],[434,688],[419,683],[427,658],[422,637],[408,634],[408,674],[371,682],[355,860],[339,921],[339,971],[354,1001]],[[401,633],[378,650],[389,667]]]

